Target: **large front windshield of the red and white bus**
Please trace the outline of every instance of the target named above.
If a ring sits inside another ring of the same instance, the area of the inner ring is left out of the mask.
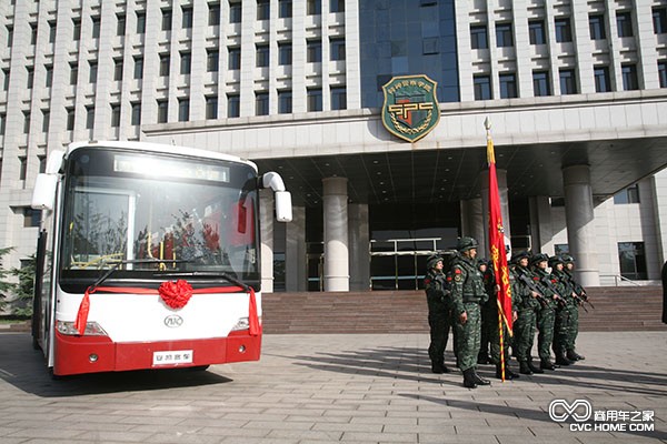
[[[61,284],[226,274],[257,286],[257,173],[248,164],[104,148],[67,163]]]

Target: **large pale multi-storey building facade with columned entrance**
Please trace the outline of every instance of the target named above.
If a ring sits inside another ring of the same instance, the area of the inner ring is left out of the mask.
[[[486,249],[491,122],[512,250],[588,285],[667,258],[664,0],[41,0],[0,4],[0,246],[34,252],[36,175],[78,140],[203,147],[281,173],[265,291],[416,289],[459,235]],[[437,82],[417,142],[382,85]],[[661,171],[661,172],[660,172]]]

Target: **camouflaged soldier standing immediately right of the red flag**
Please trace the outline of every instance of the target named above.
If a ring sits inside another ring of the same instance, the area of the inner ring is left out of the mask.
[[[532,284],[532,272],[528,269],[530,254],[519,252],[511,259],[514,268],[515,307],[517,320],[514,323],[512,351],[519,361],[519,372],[522,374],[544,373],[544,370],[532,365],[530,351],[535,342],[537,310],[540,306],[537,292],[530,290],[528,283]]]

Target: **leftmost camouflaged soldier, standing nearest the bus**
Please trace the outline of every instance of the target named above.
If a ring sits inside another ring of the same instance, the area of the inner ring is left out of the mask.
[[[424,278],[424,286],[430,326],[428,356],[434,373],[449,373],[449,369],[445,365],[445,349],[451,327],[451,294],[447,276],[442,272],[442,258],[438,255],[428,258],[426,266],[428,271]]]

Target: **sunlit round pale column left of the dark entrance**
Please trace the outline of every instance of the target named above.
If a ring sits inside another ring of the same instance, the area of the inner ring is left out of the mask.
[[[323,185],[325,211],[325,291],[350,290],[348,251],[347,179],[326,178]]]

